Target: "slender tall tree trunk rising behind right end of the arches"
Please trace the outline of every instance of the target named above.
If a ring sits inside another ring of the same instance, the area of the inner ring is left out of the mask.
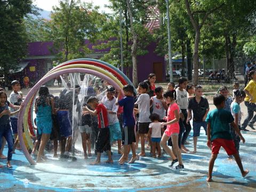
[[[131,4],[130,0],[126,0],[128,13],[130,17],[130,23],[131,23],[131,32],[132,32],[132,38],[133,38],[133,44],[132,44],[132,83],[135,87],[138,86],[138,75],[137,75],[137,34],[135,33],[134,27],[133,27],[133,18],[132,18],[132,11],[131,11]]]

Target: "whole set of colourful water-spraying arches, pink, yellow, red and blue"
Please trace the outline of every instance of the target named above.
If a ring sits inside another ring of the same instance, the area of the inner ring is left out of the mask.
[[[20,146],[24,155],[28,159],[30,164],[35,164],[33,158],[31,158],[22,137],[22,124],[26,135],[26,140],[30,148],[33,148],[33,142],[30,139],[29,133],[33,133],[33,103],[36,97],[37,90],[40,86],[44,85],[54,77],[67,74],[67,73],[86,73],[105,79],[109,84],[113,85],[115,89],[121,90],[123,93],[123,86],[126,84],[132,84],[129,78],[127,78],[122,71],[116,67],[110,65],[107,62],[96,59],[75,59],[64,63],[61,63],[57,67],[51,69],[27,94],[23,108],[21,108],[18,118],[18,135],[20,140]],[[134,87],[134,91],[136,91]]]

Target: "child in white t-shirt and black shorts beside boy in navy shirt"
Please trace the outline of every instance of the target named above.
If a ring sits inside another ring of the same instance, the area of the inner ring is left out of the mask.
[[[141,153],[139,156],[144,157],[145,154],[145,134],[148,133],[148,126],[150,124],[150,98],[147,94],[148,84],[146,82],[139,83],[139,99],[135,102],[135,105],[138,105],[139,109],[139,124],[138,124],[138,133],[140,134],[141,142]]]

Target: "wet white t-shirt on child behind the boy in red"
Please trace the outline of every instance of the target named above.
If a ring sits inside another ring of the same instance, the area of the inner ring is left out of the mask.
[[[107,110],[110,110],[110,111],[113,111],[113,112],[117,113],[118,106],[116,105],[116,98],[115,97],[112,100],[108,100],[107,95],[105,95],[101,99],[101,102],[103,103],[103,105],[105,105]],[[109,114],[108,113],[108,124],[113,125],[117,122],[119,122],[119,120],[117,118],[117,114]]]

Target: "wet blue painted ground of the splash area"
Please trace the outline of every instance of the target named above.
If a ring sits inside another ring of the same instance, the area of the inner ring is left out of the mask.
[[[77,155],[77,162],[52,158],[37,165],[29,165],[21,151],[13,155],[13,169],[0,169],[1,191],[255,191],[256,189],[256,143],[255,133],[244,133],[245,144],[241,144],[240,154],[243,165],[250,170],[247,178],[242,178],[235,161],[229,161],[224,150],[215,162],[213,179],[205,181],[210,157],[206,147],[207,138],[201,131],[198,138],[197,154],[182,154],[185,169],[172,170],[168,166],[167,155],[161,159],[140,158],[134,164],[119,165],[119,155],[114,148],[114,164],[89,165],[94,157],[84,160]],[[190,143],[193,139],[189,138]],[[188,145],[193,149],[193,145]],[[139,152],[139,150],[138,150]],[[7,146],[4,154],[7,153]],[[102,162],[107,159],[102,155]],[[0,160],[5,164],[4,160]]]

